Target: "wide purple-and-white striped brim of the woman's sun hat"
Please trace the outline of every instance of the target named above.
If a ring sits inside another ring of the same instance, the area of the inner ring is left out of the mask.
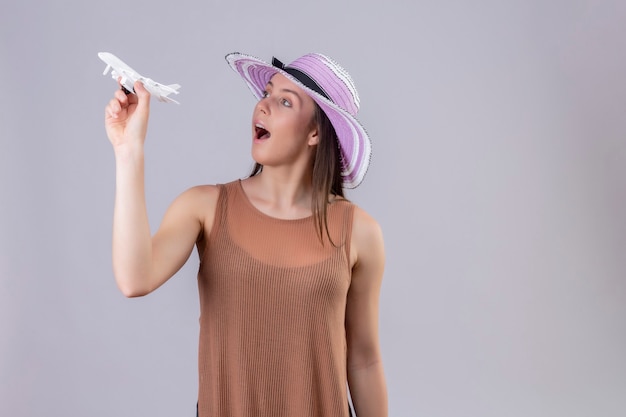
[[[295,83],[324,111],[335,128],[341,152],[341,180],[345,188],[356,188],[365,177],[372,156],[372,144],[365,128],[350,113],[311,90],[287,72],[256,57],[234,52],[226,61],[246,82],[252,94],[261,99],[268,81],[281,74]]]

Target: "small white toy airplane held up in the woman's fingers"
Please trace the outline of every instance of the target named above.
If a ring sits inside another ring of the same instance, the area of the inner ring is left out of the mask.
[[[178,101],[168,97],[168,95],[172,93],[178,94],[180,85],[159,84],[150,78],[143,77],[137,71],[126,65],[121,59],[109,52],[100,52],[98,53],[98,57],[103,60],[105,64],[107,64],[102,75],[107,75],[107,72],[113,68],[111,76],[116,81],[121,77],[120,84],[122,84],[126,94],[133,92],[133,85],[135,84],[135,81],[141,81],[144,87],[146,87],[146,90],[148,90],[150,94],[155,96],[159,101],[180,104]]]

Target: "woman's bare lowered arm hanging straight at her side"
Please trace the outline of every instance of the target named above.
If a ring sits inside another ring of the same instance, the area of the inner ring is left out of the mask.
[[[387,417],[387,388],[378,339],[378,305],[385,265],[382,232],[356,208],[351,252],[355,258],[346,306],[348,384],[357,417]]]

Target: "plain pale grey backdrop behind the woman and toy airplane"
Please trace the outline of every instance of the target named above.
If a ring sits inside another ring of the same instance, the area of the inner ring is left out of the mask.
[[[352,74],[390,416],[624,415],[623,0],[0,1],[1,416],[195,415],[197,254],[148,297],[112,276],[100,51],[182,85],[152,105],[153,230],[252,166],[225,54]]]

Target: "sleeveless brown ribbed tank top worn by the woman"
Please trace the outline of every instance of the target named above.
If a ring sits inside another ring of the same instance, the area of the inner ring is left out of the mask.
[[[200,256],[200,417],[347,417],[345,310],[354,205],[270,217],[220,186]]]

